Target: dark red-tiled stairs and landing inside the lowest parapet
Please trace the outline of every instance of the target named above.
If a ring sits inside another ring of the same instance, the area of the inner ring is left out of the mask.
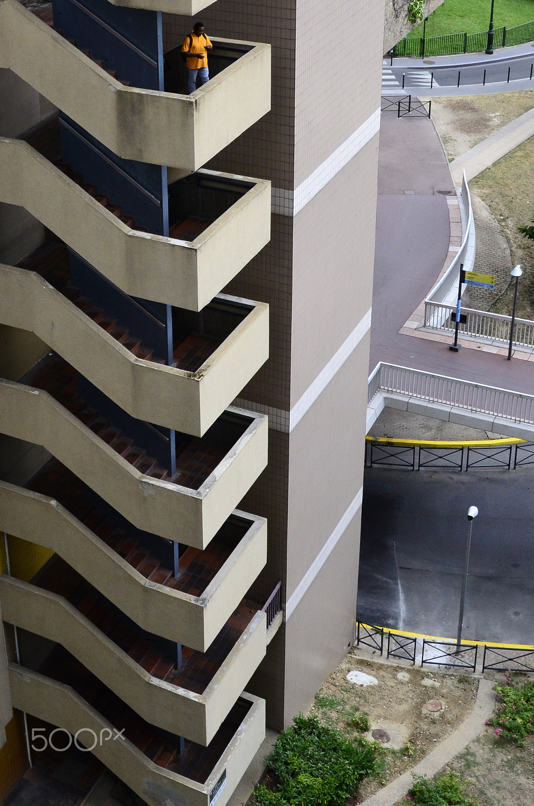
[[[205,783],[239,725],[239,712],[236,715],[231,713],[223,721],[209,746],[196,745],[186,739],[184,751],[180,754],[179,737],[148,725],[62,646],[57,645],[52,650],[39,671],[42,675],[71,686],[104,719],[110,721],[111,725],[118,730],[124,729],[123,735],[151,761],[158,758],[159,766],[165,765],[166,769],[198,783]]]

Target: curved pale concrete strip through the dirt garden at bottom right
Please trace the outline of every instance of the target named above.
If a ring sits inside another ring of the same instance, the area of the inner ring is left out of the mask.
[[[366,800],[361,806],[394,806],[398,800],[407,795],[413,783],[413,775],[436,775],[441,767],[451,761],[469,742],[476,739],[486,727],[486,719],[490,719],[495,705],[496,694],[493,681],[481,679],[478,683],[477,700],[473,711],[453,733],[432,750],[419,764],[411,767],[386,787]]]

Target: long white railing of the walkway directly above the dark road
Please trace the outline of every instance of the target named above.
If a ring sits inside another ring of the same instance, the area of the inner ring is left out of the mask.
[[[489,414],[511,422],[534,425],[534,396],[511,392],[470,380],[448,378],[419,369],[378,364],[369,376],[368,403],[379,392],[416,397],[432,403],[453,405],[477,413]]]

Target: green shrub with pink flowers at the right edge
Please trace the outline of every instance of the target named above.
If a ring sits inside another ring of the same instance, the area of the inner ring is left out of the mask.
[[[494,686],[499,695],[499,706],[494,717],[486,721],[499,739],[509,739],[518,747],[524,738],[534,733],[534,680],[519,686],[508,677],[511,685]]]

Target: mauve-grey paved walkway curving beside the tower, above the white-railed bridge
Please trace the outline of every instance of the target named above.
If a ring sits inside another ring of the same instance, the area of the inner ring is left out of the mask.
[[[451,189],[432,120],[383,113],[369,372],[387,361],[534,394],[533,362],[476,350],[454,353],[444,344],[398,334],[447,256],[448,209],[438,191]]]

